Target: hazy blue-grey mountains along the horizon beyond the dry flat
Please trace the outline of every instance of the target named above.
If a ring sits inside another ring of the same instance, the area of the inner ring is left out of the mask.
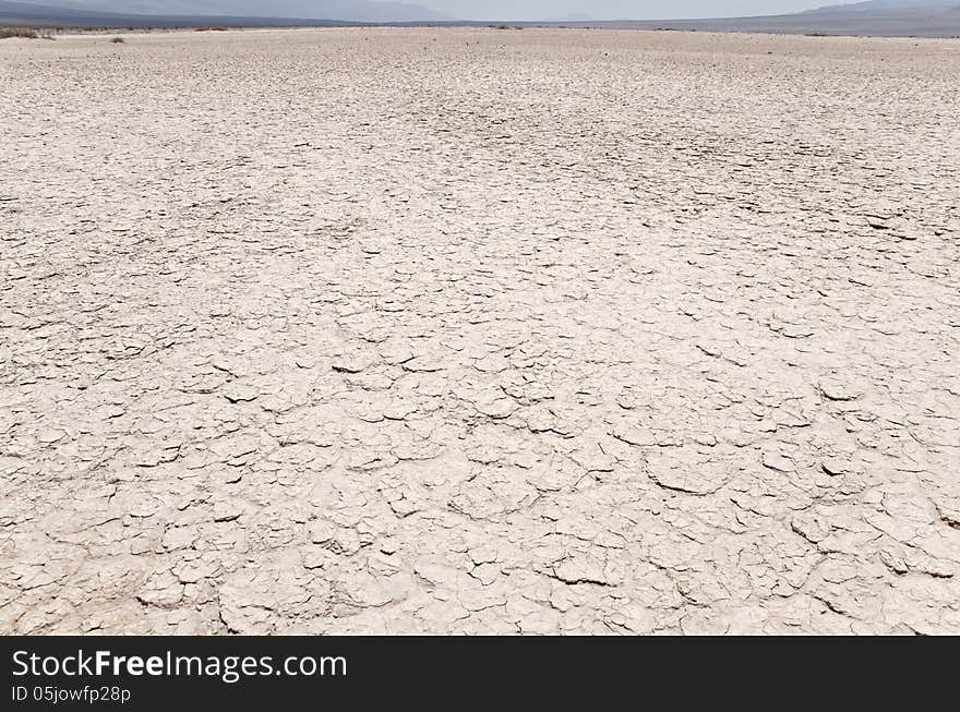
[[[291,26],[338,24],[444,24],[461,22],[407,2],[373,0],[47,0],[46,4],[0,0],[0,25],[27,26]],[[769,32],[824,35],[960,37],[960,0],[868,0],[826,5],[795,14],[722,20],[598,22],[568,19],[512,25],[563,25]]]

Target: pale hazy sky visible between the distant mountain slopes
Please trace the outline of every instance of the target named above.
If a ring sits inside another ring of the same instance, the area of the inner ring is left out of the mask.
[[[463,20],[596,20],[723,17],[797,12],[844,0],[408,0]],[[852,1],[852,0],[851,0]]]

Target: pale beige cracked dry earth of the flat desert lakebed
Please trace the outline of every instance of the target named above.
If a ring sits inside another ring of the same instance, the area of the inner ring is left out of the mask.
[[[0,76],[3,632],[960,632],[960,41]]]

